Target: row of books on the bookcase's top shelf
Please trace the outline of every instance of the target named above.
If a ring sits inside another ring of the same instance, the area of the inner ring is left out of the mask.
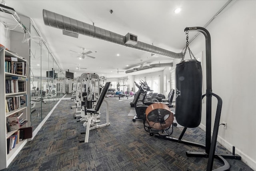
[[[18,61],[18,58],[5,57],[5,72],[26,76],[26,62]]]

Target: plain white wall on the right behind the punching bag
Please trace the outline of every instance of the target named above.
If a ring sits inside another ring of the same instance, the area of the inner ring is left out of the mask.
[[[256,170],[256,1],[237,1],[206,29],[212,44],[212,92],[223,100],[220,123],[227,123],[227,129],[220,126],[218,141],[230,151],[234,145],[242,161]],[[203,51],[205,66],[202,34],[190,44],[190,49],[193,54]],[[180,60],[174,60],[174,66],[178,62]],[[205,87],[205,67],[203,70]],[[213,126],[217,100],[212,99]],[[203,103],[203,129],[205,111]]]

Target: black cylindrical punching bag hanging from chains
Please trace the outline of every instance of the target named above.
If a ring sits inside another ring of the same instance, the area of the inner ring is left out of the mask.
[[[184,127],[198,127],[202,111],[202,67],[197,60],[184,60],[176,65],[177,122]]]

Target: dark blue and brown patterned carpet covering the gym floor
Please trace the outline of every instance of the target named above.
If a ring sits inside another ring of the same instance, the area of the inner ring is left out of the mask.
[[[204,151],[149,136],[142,125],[132,125],[129,99],[106,98],[109,102],[110,125],[90,131],[84,139],[82,122],[74,119],[71,100],[61,101],[36,137],[28,142],[6,171],[204,171],[207,158],[187,157],[186,151]],[[106,103],[101,107],[101,123],[106,119]],[[182,128],[174,128],[178,138]],[[204,143],[202,129],[188,129],[184,139]],[[226,153],[219,144],[217,152]],[[228,152],[229,153],[229,152]],[[227,159],[231,171],[252,171],[242,161]],[[215,159],[214,169],[221,166]]]

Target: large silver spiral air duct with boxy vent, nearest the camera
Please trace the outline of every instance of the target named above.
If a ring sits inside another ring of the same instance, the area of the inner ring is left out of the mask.
[[[127,46],[130,48],[142,50],[144,52],[158,54],[158,55],[168,57],[168,58],[173,58],[173,59],[182,58],[182,55],[183,55],[182,53],[174,53],[174,52],[171,52],[162,48],[158,48],[156,46],[152,46],[150,44],[146,44],[139,41],[137,41],[138,43],[136,45],[132,46],[130,44],[126,44],[128,40],[126,40],[125,36],[116,34],[114,32],[110,32],[102,28],[98,28],[96,26],[93,26],[84,22],[80,22],[72,18],[68,18],[66,16],[62,16],[60,14],[56,14],[54,12],[50,12],[48,10],[43,10],[43,19],[44,19],[44,24],[46,26],[59,28],[61,30],[72,32],[75,34],[83,34],[86,36],[98,38],[100,40],[105,40],[105,41],[119,44],[122,46]]]

